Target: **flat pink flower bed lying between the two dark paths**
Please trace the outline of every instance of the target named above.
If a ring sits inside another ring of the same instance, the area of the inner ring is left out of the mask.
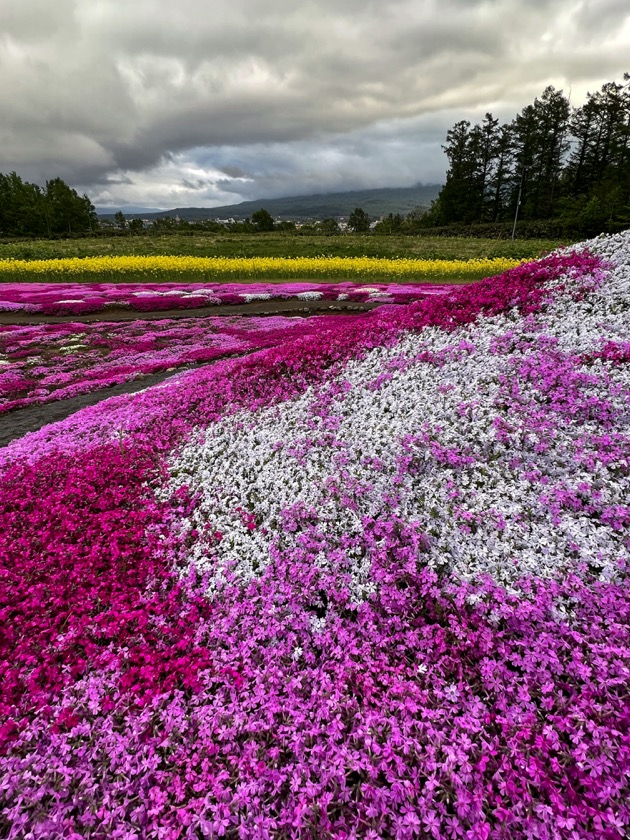
[[[329,325],[323,315],[0,326],[0,414],[273,347]]]

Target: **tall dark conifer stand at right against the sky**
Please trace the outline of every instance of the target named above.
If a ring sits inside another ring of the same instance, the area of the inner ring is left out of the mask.
[[[446,184],[422,227],[521,235],[596,234],[630,227],[630,75],[571,107],[548,87],[512,120],[456,123],[443,146]]]

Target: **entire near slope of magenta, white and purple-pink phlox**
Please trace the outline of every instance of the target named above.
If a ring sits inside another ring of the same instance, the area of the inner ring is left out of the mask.
[[[0,835],[626,837],[628,361],[622,234],[0,449]]]

